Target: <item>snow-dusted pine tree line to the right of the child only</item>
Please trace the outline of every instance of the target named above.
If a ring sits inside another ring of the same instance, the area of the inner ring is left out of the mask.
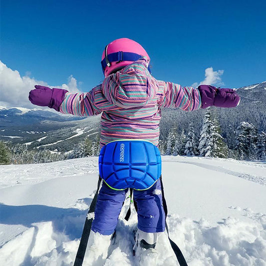
[[[227,135],[223,137],[216,111],[208,108],[199,136],[195,134],[194,123],[190,123],[187,132],[179,133],[174,127],[160,140],[159,148],[165,155],[266,161],[266,133],[259,132],[252,123],[240,122],[236,130],[228,125]]]

